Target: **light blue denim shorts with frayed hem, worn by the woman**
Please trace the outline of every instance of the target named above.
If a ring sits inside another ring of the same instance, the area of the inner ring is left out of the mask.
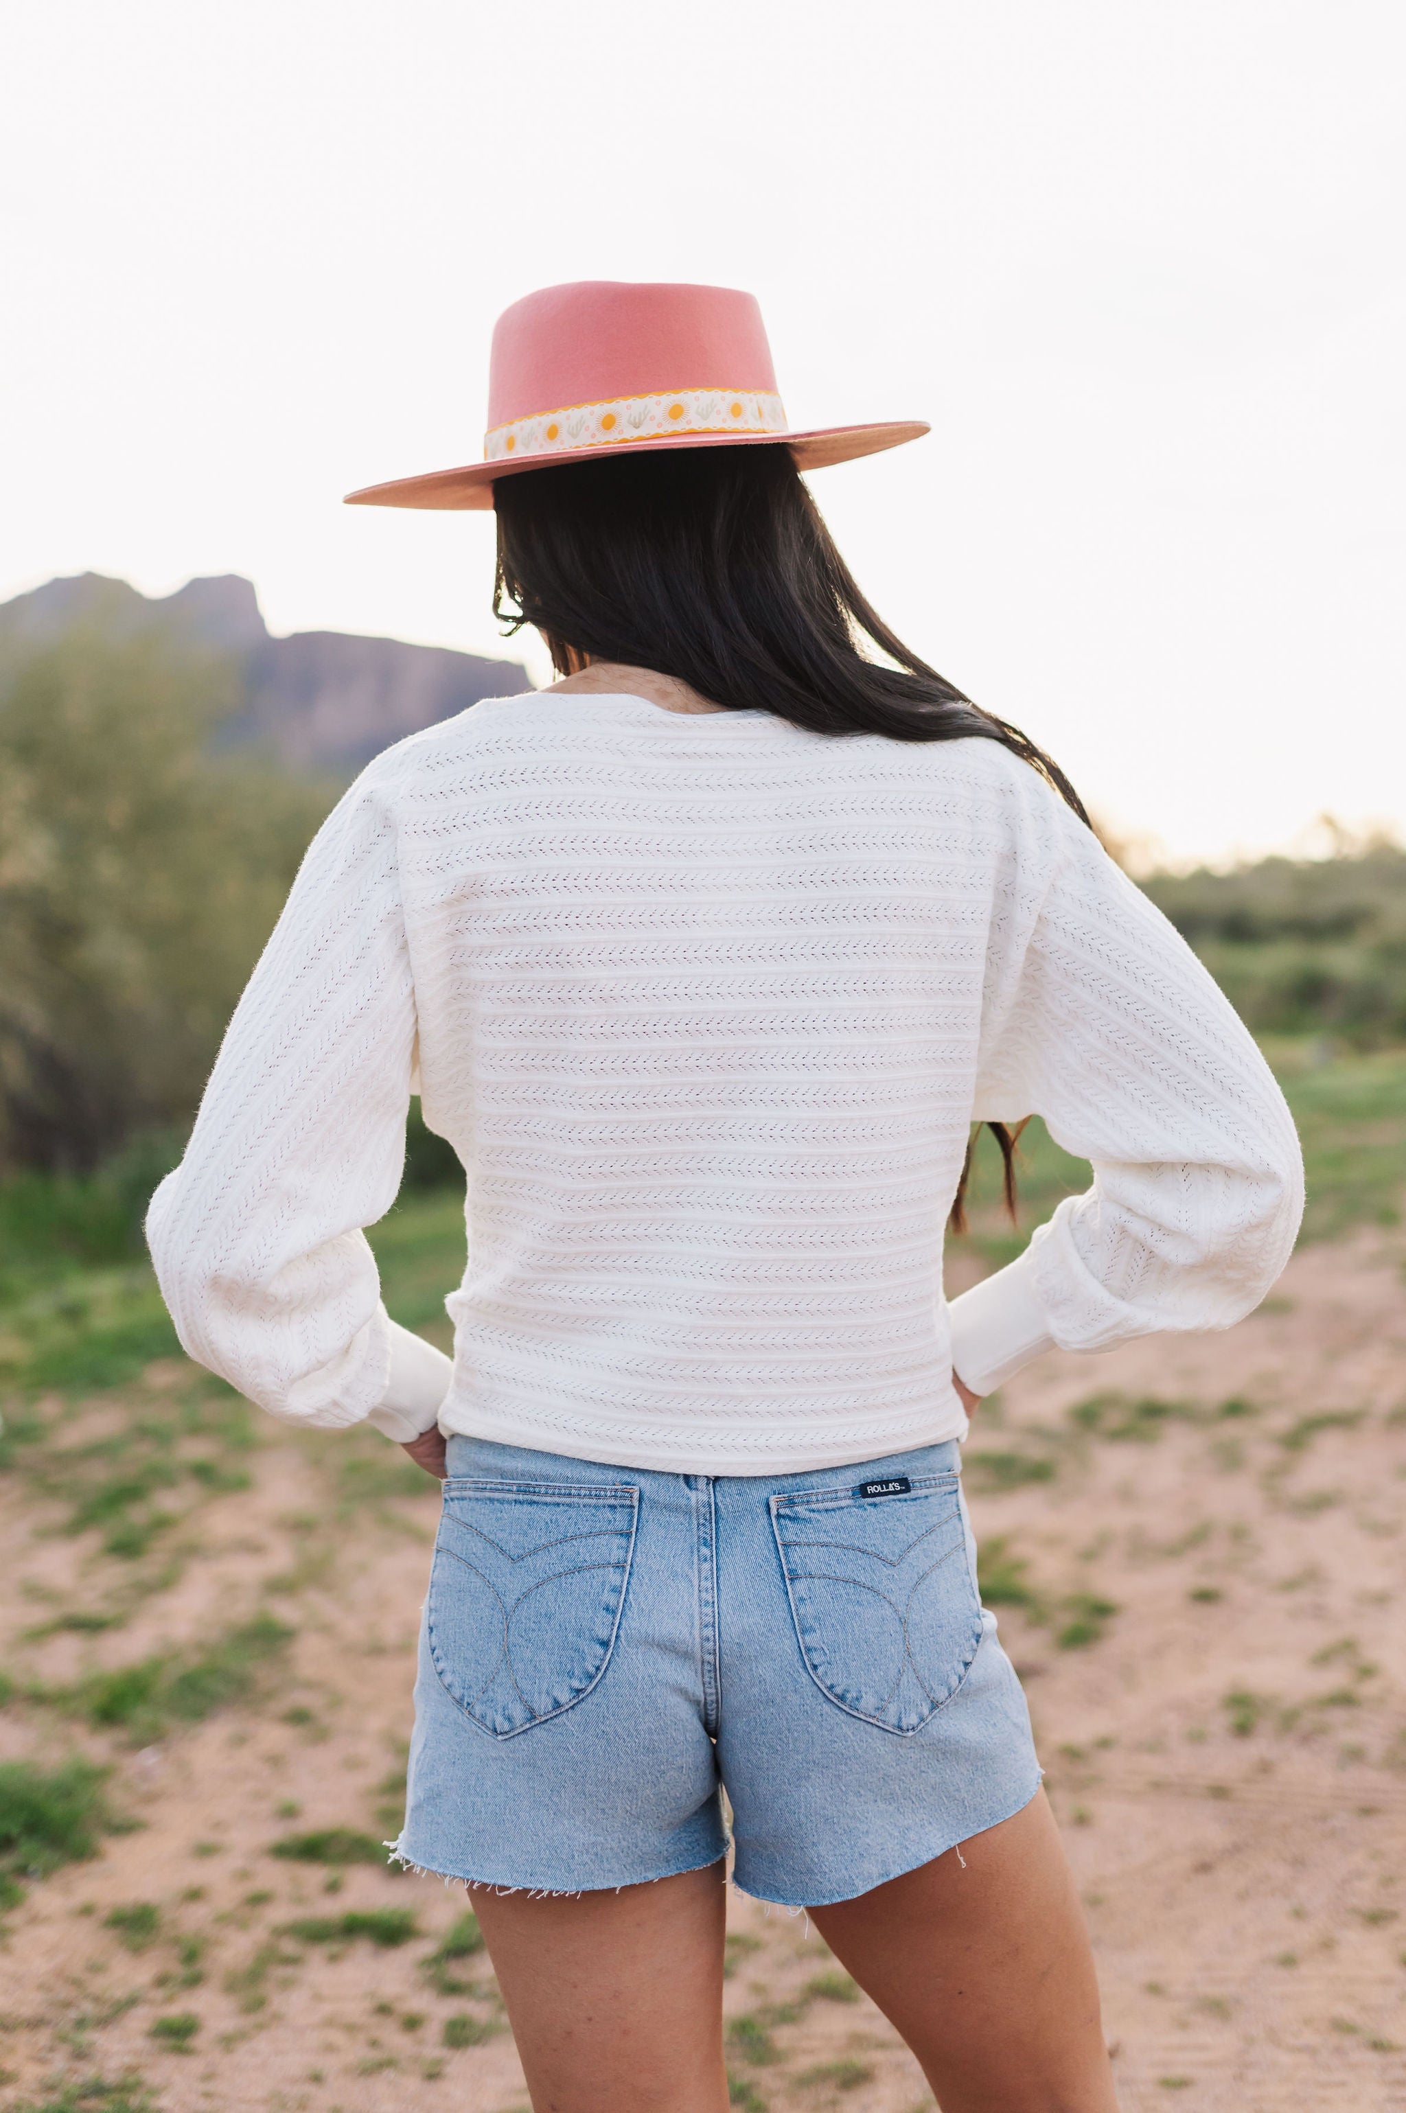
[[[698,1870],[827,1906],[1030,1802],[956,1443],[662,1475],[448,1441],[395,1855],[579,1893]]]

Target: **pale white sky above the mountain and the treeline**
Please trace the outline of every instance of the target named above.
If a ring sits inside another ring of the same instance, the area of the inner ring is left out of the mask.
[[[888,621],[1180,860],[1406,833],[1395,0],[8,0],[0,598],[243,573],[277,632],[516,653],[488,332],[761,300]],[[535,663],[541,668],[541,661]]]

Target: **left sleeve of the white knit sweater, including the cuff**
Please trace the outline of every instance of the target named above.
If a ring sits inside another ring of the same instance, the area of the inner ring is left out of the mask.
[[[427,1431],[450,1361],[381,1304],[414,987],[372,765],[317,833],[146,1232],[184,1348],[294,1424]]]

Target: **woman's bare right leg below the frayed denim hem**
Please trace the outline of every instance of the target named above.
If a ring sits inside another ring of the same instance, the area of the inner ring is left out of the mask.
[[[1044,1798],[858,1900],[812,1908],[943,2113],[1116,2113],[1099,1993]]]

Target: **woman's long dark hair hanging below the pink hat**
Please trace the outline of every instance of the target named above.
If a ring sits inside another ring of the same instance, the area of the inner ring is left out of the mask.
[[[727,712],[812,733],[1000,742],[1089,820],[1019,727],[973,704],[888,630],[835,549],[784,444],[660,448],[499,478],[493,613],[531,623],[552,666],[586,659],[674,676]],[[516,602],[516,609],[507,606]],[[896,666],[867,659],[869,638]],[[1000,1145],[1015,1217],[1015,1139]],[[951,1226],[966,1230],[970,1143]]]

